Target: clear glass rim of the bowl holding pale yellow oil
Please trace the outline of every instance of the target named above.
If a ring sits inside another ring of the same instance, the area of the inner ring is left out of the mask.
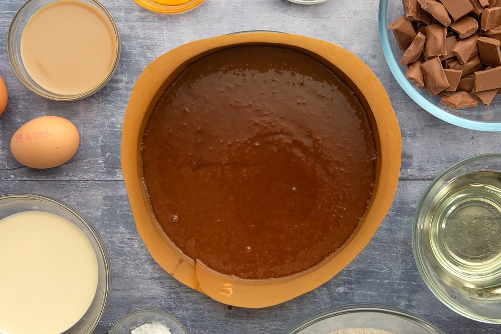
[[[421,278],[423,279],[424,283],[428,287],[428,289],[433,293],[433,295],[440,301],[442,302],[445,306],[447,306],[449,309],[453,310],[454,312],[467,317],[469,319],[475,320],[475,321],[481,321],[485,323],[501,323],[501,316],[495,320],[491,318],[486,318],[480,315],[473,315],[471,312],[468,312],[461,304],[455,302],[452,300],[452,298],[449,298],[445,293],[442,292],[443,289],[440,289],[440,285],[445,284],[441,282],[440,280],[437,279],[438,283],[435,283],[435,280],[432,279],[433,272],[430,272],[430,270],[427,268],[427,256],[423,254],[422,250],[422,241],[420,241],[422,237],[422,233],[420,233],[422,223],[420,222],[419,217],[422,215],[423,212],[423,206],[425,202],[428,200],[428,196],[430,192],[438,185],[438,183],[442,182],[442,180],[448,176],[449,174],[453,173],[454,171],[458,170],[459,168],[468,165],[471,162],[475,162],[478,160],[483,160],[483,159],[490,159],[490,158],[497,158],[501,161],[501,153],[484,153],[484,154],[477,154],[473,155],[471,157],[467,157],[465,159],[459,160],[455,162],[454,164],[450,165],[447,167],[444,171],[442,171],[438,176],[436,176],[433,181],[428,185],[426,190],[423,192],[423,195],[421,196],[417,207],[416,211],[413,217],[413,222],[412,222],[412,252],[414,255],[414,260],[416,262],[417,269],[419,271],[419,274],[421,275]],[[501,304],[501,302],[500,302]]]

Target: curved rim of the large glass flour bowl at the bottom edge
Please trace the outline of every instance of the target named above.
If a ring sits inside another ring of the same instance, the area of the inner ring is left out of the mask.
[[[351,304],[345,304],[345,305],[340,305],[340,306],[334,306],[327,308],[325,310],[319,311],[317,313],[313,313],[312,315],[309,315],[295,324],[291,325],[288,327],[285,331],[284,334],[296,334],[300,330],[303,330],[307,328],[308,326],[330,318],[334,317],[337,315],[341,314],[349,314],[349,313],[363,313],[363,312],[375,312],[375,313],[382,313],[390,316],[396,316],[399,318],[403,318],[409,322],[412,322],[414,324],[418,324],[421,327],[424,327],[426,329],[432,330],[432,332],[436,334],[444,334],[444,332],[440,329],[438,329],[436,326],[433,324],[429,323],[428,321],[411,314],[410,312],[403,310],[398,307],[394,306],[388,306],[388,305],[383,305],[379,303],[351,303]]]

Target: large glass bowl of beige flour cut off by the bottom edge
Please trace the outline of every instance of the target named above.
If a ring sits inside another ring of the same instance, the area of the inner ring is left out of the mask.
[[[357,303],[308,316],[284,334],[444,334],[431,323],[402,309]]]

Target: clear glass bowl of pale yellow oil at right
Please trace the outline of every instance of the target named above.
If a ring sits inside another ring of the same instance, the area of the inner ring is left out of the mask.
[[[421,198],[412,230],[431,292],[468,318],[501,323],[501,154],[443,171]]]

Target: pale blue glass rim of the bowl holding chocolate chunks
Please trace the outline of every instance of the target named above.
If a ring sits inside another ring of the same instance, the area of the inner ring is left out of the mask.
[[[459,117],[448,113],[447,111],[437,107],[435,104],[431,103],[425,99],[420,93],[417,92],[416,87],[402,74],[397,60],[391,52],[391,46],[388,37],[388,23],[386,21],[387,11],[388,11],[388,1],[380,0],[379,2],[379,13],[378,13],[378,28],[379,28],[379,40],[381,42],[381,48],[383,50],[383,55],[386,60],[386,64],[390,68],[390,72],[396,79],[397,83],[404,90],[404,92],[409,96],[419,107],[430,113],[431,115],[465,129],[478,130],[478,131],[501,131],[501,122],[481,122],[476,120],[468,120],[463,117]],[[403,9],[402,9],[403,13]]]

